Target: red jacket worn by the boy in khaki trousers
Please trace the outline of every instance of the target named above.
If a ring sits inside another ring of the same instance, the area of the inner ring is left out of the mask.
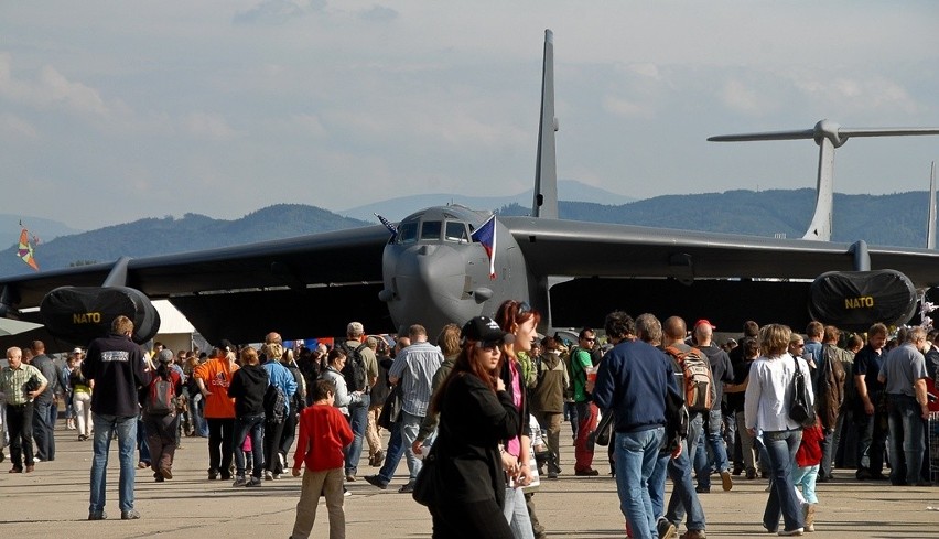
[[[293,467],[306,463],[306,470],[322,472],[343,467],[343,448],[353,441],[352,429],[343,412],[331,405],[313,405],[300,412],[300,434]]]

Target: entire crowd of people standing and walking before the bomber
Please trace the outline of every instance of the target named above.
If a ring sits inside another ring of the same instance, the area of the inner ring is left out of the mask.
[[[112,440],[120,516],[136,519],[136,471],[172,479],[175,449],[201,436],[208,481],[251,488],[303,475],[294,538],[310,536],[320,496],[330,537],[345,536],[345,484],[359,479],[367,446],[379,471],[361,478],[381,489],[406,459],[398,492],[428,506],[434,537],[543,539],[535,497],[563,473],[564,421],[573,475],[601,475],[594,456],[606,445],[635,538],[673,538],[682,521],[682,539],[706,537],[699,496],[712,477],[723,491],[768,479],[762,524],[780,536],[814,530],[817,483],[835,467],[854,467],[859,481],[929,484],[936,332],[900,328],[891,339],[883,324],[845,335],[818,322],[805,334],[747,322],[719,346],[708,320],[689,328],[677,316],[613,312],[603,332],[584,327],[576,342],[539,337],[540,322],[528,303],[506,301],[493,319],[447,324],[433,343],[419,324],[391,342],[350,322],[332,347],[285,348],[271,332],[257,348],[223,341],[174,354],[134,344],[133,323],[118,316],[63,367],[39,341],[7,351],[0,444],[9,441],[10,473],[54,461],[62,401],[66,429],[93,441],[88,519],[107,518]],[[796,396],[809,419],[792,411]]]

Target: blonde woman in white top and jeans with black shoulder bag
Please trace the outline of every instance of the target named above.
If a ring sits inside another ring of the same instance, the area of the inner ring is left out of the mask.
[[[802,427],[789,418],[789,405],[796,369],[801,370],[807,380],[810,375],[802,358],[788,354],[791,335],[792,331],[781,324],[769,324],[759,331],[762,355],[751,367],[744,403],[746,429],[754,436],[762,432],[769,461],[769,498],[763,526],[776,532],[781,514],[785,527],[779,530],[780,536],[801,536],[805,528],[805,516],[791,477],[796,452],[802,441]],[[809,395],[811,397],[811,391]]]

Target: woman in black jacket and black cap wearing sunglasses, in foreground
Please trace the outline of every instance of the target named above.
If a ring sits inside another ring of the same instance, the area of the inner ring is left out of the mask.
[[[430,509],[434,538],[510,539],[508,522],[496,517],[506,492],[499,442],[517,434],[521,419],[497,368],[500,346],[514,337],[485,316],[462,334],[453,370],[431,401],[440,425],[414,497]]]

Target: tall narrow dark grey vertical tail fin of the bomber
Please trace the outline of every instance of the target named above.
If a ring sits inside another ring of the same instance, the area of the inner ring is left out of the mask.
[[[558,218],[558,163],[554,157],[554,33],[544,31],[544,63],[541,72],[541,119],[538,126],[538,159],[535,164],[532,217]]]

